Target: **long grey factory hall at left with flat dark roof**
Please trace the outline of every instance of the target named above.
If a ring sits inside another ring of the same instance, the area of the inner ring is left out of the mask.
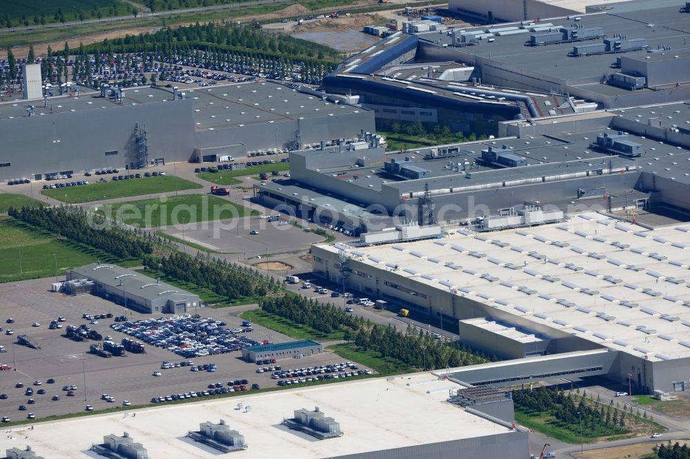
[[[12,99],[0,103],[0,179],[216,161],[373,130],[373,112],[340,102],[265,81]]]

